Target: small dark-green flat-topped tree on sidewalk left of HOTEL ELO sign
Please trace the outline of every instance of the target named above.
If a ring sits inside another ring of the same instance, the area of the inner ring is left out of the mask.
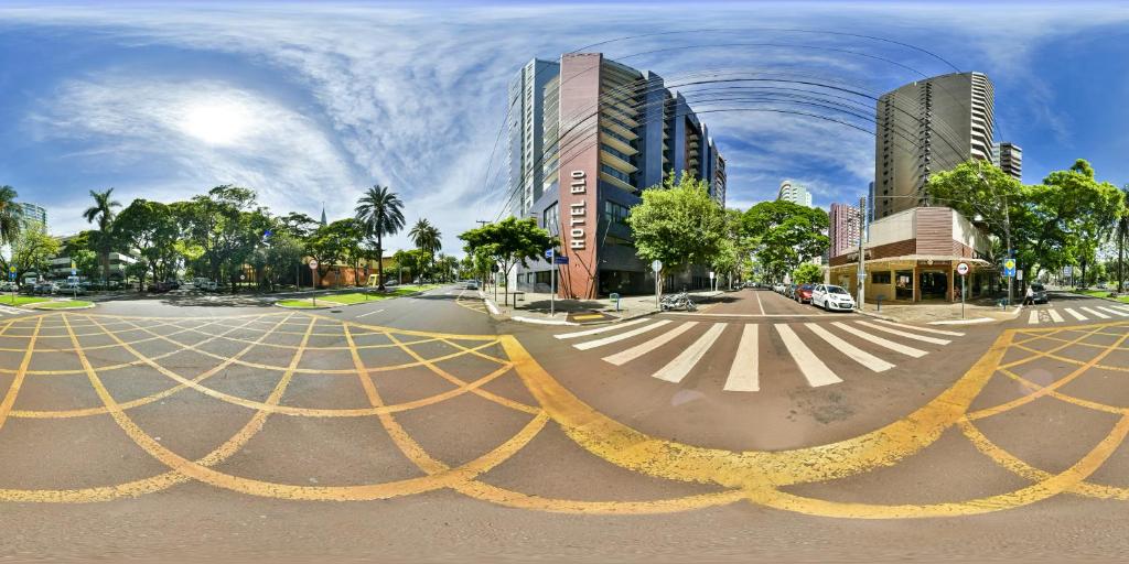
[[[487,223],[458,236],[466,243],[469,253],[481,252],[492,258],[505,276],[505,303],[509,305],[509,273],[514,266],[528,266],[528,261],[541,258],[546,248],[557,240],[549,231],[537,227],[535,219],[517,219],[513,215],[497,223]]]

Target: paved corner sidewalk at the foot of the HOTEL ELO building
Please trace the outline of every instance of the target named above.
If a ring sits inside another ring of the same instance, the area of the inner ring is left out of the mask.
[[[493,302],[493,305],[497,306],[499,311],[497,315],[500,317],[534,324],[574,324],[569,320],[570,314],[588,314],[598,311],[614,318],[613,320],[619,320],[641,317],[658,311],[654,294],[624,296],[620,299],[618,311],[615,302],[607,298],[599,298],[595,300],[563,300],[558,298],[553,300],[552,306],[554,312],[550,316],[550,294],[548,292],[510,292],[508,306],[506,305],[501,289],[498,289],[497,301],[495,301],[495,292],[492,288],[489,291],[483,291],[482,293],[485,296],[488,301]],[[698,291],[688,293],[694,303],[701,303],[724,292]],[[603,321],[607,321],[607,319],[604,319]]]

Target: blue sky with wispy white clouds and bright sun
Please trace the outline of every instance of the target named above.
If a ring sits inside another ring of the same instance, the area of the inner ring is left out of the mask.
[[[598,44],[596,46],[592,46]],[[172,202],[222,184],[274,213],[349,217],[390,186],[409,224],[457,235],[506,209],[506,88],[577,50],[663,76],[727,161],[727,205],[805,184],[857,202],[874,178],[874,98],[981,71],[1024,182],[1086,158],[1129,184],[1129,7],[1035,2],[0,1],[0,184],[58,235],[90,190]],[[842,107],[719,96],[702,77],[834,83]],[[681,88],[680,88],[681,87]],[[401,233],[390,248],[408,247]]]

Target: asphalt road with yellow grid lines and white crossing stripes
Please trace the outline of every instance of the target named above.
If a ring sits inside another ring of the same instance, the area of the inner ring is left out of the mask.
[[[1123,555],[1129,308],[910,327],[729,298],[592,327],[452,288],[6,314],[0,557]]]

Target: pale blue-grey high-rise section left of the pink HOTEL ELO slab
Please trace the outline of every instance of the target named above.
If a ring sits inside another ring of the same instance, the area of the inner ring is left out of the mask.
[[[509,209],[525,218],[541,197],[544,170],[545,85],[560,74],[560,64],[534,59],[509,82]],[[550,99],[555,114],[555,99]],[[552,116],[555,122],[555,116]]]

